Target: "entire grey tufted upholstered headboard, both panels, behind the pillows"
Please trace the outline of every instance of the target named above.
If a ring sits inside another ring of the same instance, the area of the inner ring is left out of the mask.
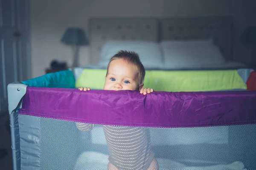
[[[232,59],[233,18],[92,18],[90,19],[90,63],[101,58],[108,40],[160,40],[214,38],[226,60]]]

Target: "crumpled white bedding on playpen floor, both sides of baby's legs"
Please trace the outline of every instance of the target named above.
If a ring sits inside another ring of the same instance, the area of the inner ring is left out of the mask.
[[[159,170],[248,170],[241,161],[230,164],[215,164],[211,166],[186,166],[170,159],[157,158]],[[75,170],[107,170],[108,155],[97,152],[81,153],[76,161]]]

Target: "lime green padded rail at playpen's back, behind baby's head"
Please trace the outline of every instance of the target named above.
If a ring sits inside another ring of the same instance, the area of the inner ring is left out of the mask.
[[[105,69],[84,69],[76,81],[76,88],[103,89],[105,75]],[[145,88],[167,92],[220,91],[247,88],[237,70],[146,70],[144,84]]]

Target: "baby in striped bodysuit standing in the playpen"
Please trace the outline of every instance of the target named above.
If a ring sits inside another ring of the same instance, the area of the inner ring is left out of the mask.
[[[119,51],[108,63],[104,90],[140,90],[146,95],[153,89],[144,89],[145,69],[135,52]],[[90,90],[88,87],[79,88]],[[79,130],[88,131],[93,124],[76,122]],[[103,126],[110,156],[108,170],[158,170],[151,152],[149,134],[145,127]]]

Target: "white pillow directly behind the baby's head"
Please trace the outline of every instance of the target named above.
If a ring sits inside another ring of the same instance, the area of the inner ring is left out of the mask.
[[[102,48],[102,56],[99,65],[107,66],[111,57],[120,50],[137,52],[145,69],[163,67],[163,57],[161,55],[159,44],[143,40],[108,41]]]

